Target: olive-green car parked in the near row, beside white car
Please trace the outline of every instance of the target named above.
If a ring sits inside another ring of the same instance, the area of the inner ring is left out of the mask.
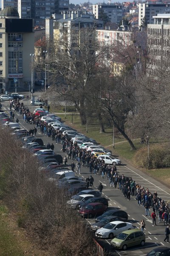
[[[112,239],[111,246],[113,246],[114,248],[126,250],[127,247],[131,247],[134,245],[144,246],[144,243],[144,233],[136,228],[134,230],[126,230],[119,233],[118,236]]]

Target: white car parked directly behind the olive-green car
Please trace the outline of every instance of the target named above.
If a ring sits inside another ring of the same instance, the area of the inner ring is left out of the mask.
[[[96,236],[99,238],[112,239],[114,236],[119,235],[122,231],[131,230],[136,228],[129,222],[112,221],[106,224],[104,227],[96,231]]]

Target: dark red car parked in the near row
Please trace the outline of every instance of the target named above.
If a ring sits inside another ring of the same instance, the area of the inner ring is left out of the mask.
[[[107,209],[107,206],[101,203],[91,203],[79,210],[79,215],[84,218],[92,218],[96,215],[102,215]]]

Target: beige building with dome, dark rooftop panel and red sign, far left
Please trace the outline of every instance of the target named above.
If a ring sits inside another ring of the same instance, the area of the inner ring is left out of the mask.
[[[1,89],[12,90],[15,85],[28,89],[32,71],[30,54],[34,54],[34,21],[20,19],[17,9],[6,7],[0,12]]]

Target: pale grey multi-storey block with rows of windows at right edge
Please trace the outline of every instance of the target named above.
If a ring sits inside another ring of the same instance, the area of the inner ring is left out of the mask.
[[[159,75],[160,71],[170,71],[170,14],[158,14],[153,19],[154,24],[147,25],[147,74]]]

